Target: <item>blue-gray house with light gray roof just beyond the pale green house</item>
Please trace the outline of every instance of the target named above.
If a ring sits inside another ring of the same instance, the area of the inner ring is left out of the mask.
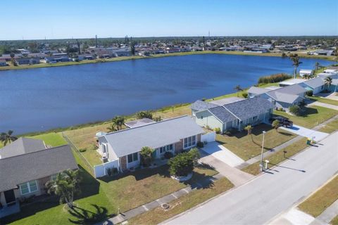
[[[251,86],[248,94],[250,98],[261,96],[273,103],[275,108],[282,108],[288,111],[291,105],[299,105],[305,99],[305,94],[308,90],[301,86],[302,83],[297,81],[296,83],[288,82],[287,84],[275,90]]]

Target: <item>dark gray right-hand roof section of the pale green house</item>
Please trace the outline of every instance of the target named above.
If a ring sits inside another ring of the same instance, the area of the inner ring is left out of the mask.
[[[265,98],[255,97],[230,103],[224,105],[224,107],[236,115],[239,120],[246,120],[261,113],[266,113],[270,108],[273,108],[273,104]]]

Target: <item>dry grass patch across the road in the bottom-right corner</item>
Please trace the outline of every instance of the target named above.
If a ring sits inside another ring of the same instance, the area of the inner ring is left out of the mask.
[[[318,217],[327,207],[338,199],[338,176],[335,176],[329,183],[325,184],[318,191],[313,193],[298,207],[299,210]]]

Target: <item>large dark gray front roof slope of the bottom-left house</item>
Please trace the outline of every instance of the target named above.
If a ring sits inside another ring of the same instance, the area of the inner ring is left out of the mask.
[[[69,146],[47,148],[0,160],[0,191],[18,184],[58,174],[65,169],[77,169]]]

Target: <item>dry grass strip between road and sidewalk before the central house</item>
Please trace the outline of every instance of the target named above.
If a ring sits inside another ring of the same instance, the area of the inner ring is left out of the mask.
[[[161,207],[156,207],[154,210],[149,210],[144,214],[139,214],[128,220],[128,224],[158,224],[165,221],[181,212],[191,209],[204,201],[213,198],[220,193],[223,193],[233,187],[233,184],[226,178],[221,178],[213,183],[209,188],[201,188],[191,193],[173,200],[170,202],[170,208],[163,210]]]

